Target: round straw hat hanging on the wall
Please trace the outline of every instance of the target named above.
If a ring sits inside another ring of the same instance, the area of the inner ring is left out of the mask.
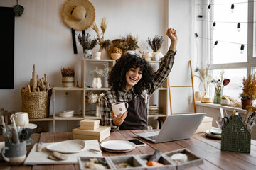
[[[95,8],[88,0],[68,0],[61,16],[64,23],[74,30],[86,30],[95,21]]]

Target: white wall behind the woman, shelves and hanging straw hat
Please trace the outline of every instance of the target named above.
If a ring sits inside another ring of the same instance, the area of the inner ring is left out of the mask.
[[[23,0],[19,4],[25,8],[23,16],[15,18],[15,70],[14,89],[0,89],[0,108],[8,111],[21,111],[20,90],[32,77],[33,64],[39,77],[48,74],[51,86],[61,86],[61,67],[75,66],[75,79],[80,84],[80,60],[82,47],[79,42],[78,55],[73,54],[70,28],[60,16],[65,0]],[[154,35],[165,38],[162,52],[168,50],[166,29],[176,28],[178,47],[174,68],[171,71],[171,85],[188,85],[190,71],[188,61],[193,60],[193,1],[175,0],[91,0],[95,6],[97,25],[103,17],[107,18],[105,37],[110,40],[132,33],[139,36],[139,45],[146,50],[146,40]],[[0,0],[0,6],[11,7],[15,1]],[[90,35],[95,35],[89,28]],[[76,31],[76,33],[80,33]],[[194,33],[193,33],[194,34]],[[95,47],[97,51],[99,47]],[[188,89],[172,91],[174,112],[191,111],[188,104]],[[57,111],[63,111],[74,105],[80,106],[80,100],[74,102],[70,97],[56,98],[60,101]],[[52,103],[52,101],[51,101]],[[50,107],[52,113],[52,106]],[[59,123],[63,124],[63,123]],[[68,125],[64,123],[63,128]],[[60,130],[65,130],[59,128]],[[58,131],[58,130],[57,130]]]

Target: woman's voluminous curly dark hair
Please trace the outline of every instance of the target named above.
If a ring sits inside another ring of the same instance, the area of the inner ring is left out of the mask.
[[[134,92],[136,94],[142,94],[142,91],[153,86],[154,72],[149,62],[146,62],[139,55],[127,53],[127,55],[122,55],[117,60],[110,72],[108,82],[114,88],[114,91],[118,92],[125,89],[127,84],[125,76],[132,67],[142,69],[142,79],[134,86]]]

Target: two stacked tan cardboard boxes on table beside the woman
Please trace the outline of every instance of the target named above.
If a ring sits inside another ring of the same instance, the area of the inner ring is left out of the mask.
[[[100,120],[84,119],[80,127],[72,130],[73,140],[98,140],[101,142],[110,136],[110,126],[100,126]]]

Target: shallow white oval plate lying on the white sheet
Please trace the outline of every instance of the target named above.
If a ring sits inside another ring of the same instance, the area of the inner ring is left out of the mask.
[[[46,146],[50,151],[60,152],[63,154],[71,154],[81,152],[85,149],[84,140],[65,140],[63,142],[56,142]]]

